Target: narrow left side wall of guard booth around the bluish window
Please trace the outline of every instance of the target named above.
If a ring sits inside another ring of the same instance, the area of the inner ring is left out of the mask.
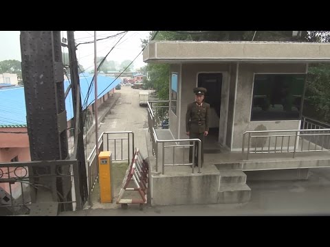
[[[180,113],[180,106],[179,106],[179,102],[181,102],[181,95],[180,95],[180,91],[181,91],[181,64],[172,64],[170,66],[170,75],[169,77],[171,78],[171,73],[177,73],[177,115],[175,115],[173,113],[173,111],[171,110],[171,104],[170,104],[170,110],[169,110],[169,115],[170,115],[170,132],[172,132],[173,137],[179,139],[179,132],[177,131],[179,129],[179,123],[182,121],[182,119],[179,119],[179,113]],[[169,80],[170,84],[168,86],[169,88],[169,95],[171,97],[171,84],[172,82]],[[171,100],[171,98],[169,97],[169,99]],[[170,102],[171,103],[171,102]],[[180,121],[181,120],[181,121]]]

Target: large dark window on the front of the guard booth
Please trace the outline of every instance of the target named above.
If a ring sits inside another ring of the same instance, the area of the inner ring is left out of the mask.
[[[255,74],[251,121],[298,120],[305,74]]]

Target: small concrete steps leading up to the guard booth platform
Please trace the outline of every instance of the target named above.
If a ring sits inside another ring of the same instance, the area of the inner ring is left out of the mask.
[[[220,184],[217,203],[250,201],[251,189],[246,185],[246,174],[244,172],[238,169],[219,169],[219,171]]]

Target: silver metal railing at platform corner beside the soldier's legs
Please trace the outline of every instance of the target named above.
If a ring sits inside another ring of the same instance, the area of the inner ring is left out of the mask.
[[[163,140],[163,139],[158,139],[157,137],[157,132],[155,128],[159,128],[162,126],[162,120],[164,117],[168,116],[168,113],[164,113],[164,108],[168,112],[169,106],[164,106],[164,103],[168,104],[168,101],[149,101],[148,102],[148,130],[150,132],[150,137],[151,141],[153,143],[153,155],[156,158],[156,172],[158,172],[158,164],[161,162],[162,165],[162,174],[165,173],[165,167],[166,166],[177,166],[177,165],[191,165],[192,167],[192,173],[194,172],[194,165],[195,164],[195,148],[196,148],[196,143],[199,143],[199,147],[201,147],[201,140],[200,139],[170,139],[170,140]],[[160,106],[157,106],[157,104],[161,104]],[[162,110],[159,110],[162,109]],[[190,144],[182,144],[182,142],[189,142]],[[162,143],[162,160],[160,161],[159,158],[159,150],[158,146],[159,143]],[[166,145],[166,143],[169,143],[169,145]],[[185,163],[184,162],[184,150],[187,148],[192,147],[192,163]],[[165,164],[165,157],[166,150],[171,150],[172,153],[172,158],[166,158],[166,161],[172,161],[170,164]],[[176,150],[180,150],[182,152],[182,163],[175,163],[175,154]],[[198,154],[197,154],[197,159],[198,159],[198,172],[201,172],[201,148],[198,148]]]

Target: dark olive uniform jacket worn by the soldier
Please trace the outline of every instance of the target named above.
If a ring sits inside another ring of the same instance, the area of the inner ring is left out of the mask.
[[[210,123],[210,104],[203,102],[197,106],[196,102],[188,104],[186,112],[186,132],[203,133],[208,131]]]

